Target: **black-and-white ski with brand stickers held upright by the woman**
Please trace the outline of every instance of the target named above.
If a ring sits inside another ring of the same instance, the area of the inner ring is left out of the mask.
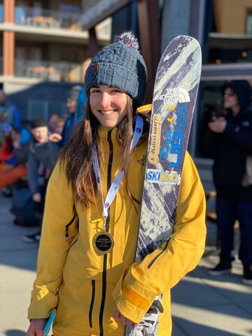
[[[201,73],[200,45],[190,36],[178,36],[163,52],[153,92],[146,175],[141,204],[136,261],[164,244],[172,235],[183,161],[188,146]],[[156,297],[139,325],[127,327],[125,336],[155,336],[162,312]]]

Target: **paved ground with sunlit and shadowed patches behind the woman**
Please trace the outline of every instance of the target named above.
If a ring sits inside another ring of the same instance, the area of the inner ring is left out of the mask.
[[[25,336],[38,246],[21,237],[36,228],[13,225],[8,209],[10,199],[0,196],[0,336]],[[211,245],[215,232],[209,228]],[[208,276],[217,260],[215,248],[207,246],[197,269],[172,290],[173,336],[252,335],[252,286],[241,284],[239,262],[233,274]]]

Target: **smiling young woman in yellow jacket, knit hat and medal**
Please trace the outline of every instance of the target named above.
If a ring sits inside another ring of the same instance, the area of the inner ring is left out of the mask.
[[[55,336],[124,335],[160,293],[158,335],[171,335],[169,290],[204,251],[204,193],[187,153],[168,248],[151,268],[164,246],[134,263],[148,141],[136,114],[146,92],[137,46],[125,33],[87,69],[85,120],[48,184],[27,336],[42,335],[55,307]]]

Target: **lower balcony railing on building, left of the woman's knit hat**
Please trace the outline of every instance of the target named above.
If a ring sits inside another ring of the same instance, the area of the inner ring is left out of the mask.
[[[15,76],[55,82],[82,82],[84,73],[81,64],[15,59]]]

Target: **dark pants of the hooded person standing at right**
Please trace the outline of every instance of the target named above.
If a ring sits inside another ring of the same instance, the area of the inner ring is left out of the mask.
[[[244,265],[252,265],[252,202],[228,202],[217,198],[216,214],[221,240],[221,260],[234,260],[234,225],[235,220],[238,220],[241,232],[239,259]]]

